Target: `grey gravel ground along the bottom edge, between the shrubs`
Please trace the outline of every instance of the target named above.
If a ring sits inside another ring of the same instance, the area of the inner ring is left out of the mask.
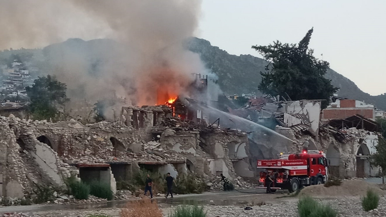
[[[381,217],[386,216],[386,198],[381,197],[376,210],[365,212],[362,209],[360,197],[317,198],[322,203],[331,204],[338,210],[341,217]],[[218,206],[206,205],[207,217],[251,217],[265,216],[267,213],[275,217],[297,217],[298,198],[277,199],[275,203],[252,206],[252,210],[244,210],[244,206]],[[164,216],[168,216],[173,207],[160,205]],[[30,216],[39,217],[86,217],[90,214],[106,214],[113,217],[119,216],[120,209],[94,209],[94,210],[56,210],[46,212],[28,213]],[[10,215],[12,216],[12,215]],[[2,215],[0,215],[2,217]]]

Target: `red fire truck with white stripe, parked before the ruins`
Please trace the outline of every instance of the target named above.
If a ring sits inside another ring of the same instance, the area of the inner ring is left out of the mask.
[[[320,185],[327,181],[327,167],[329,161],[322,151],[308,151],[306,148],[301,153],[279,154],[279,159],[257,160],[257,168],[264,169],[260,172],[257,188],[266,188],[267,173],[273,174],[271,191],[287,189],[295,192],[301,186]]]

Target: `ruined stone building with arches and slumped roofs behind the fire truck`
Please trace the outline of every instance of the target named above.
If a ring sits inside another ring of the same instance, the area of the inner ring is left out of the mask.
[[[326,154],[332,176],[377,176],[379,168],[370,164],[370,156],[376,153],[379,124],[359,114],[325,119],[327,115],[323,112],[332,114],[333,109],[322,110],[320,100],[279,101],[265,96],[249,100],[248,107],[230,110],[230,113],[271,127],[274,132],[285,136],[268,131],[249,134],[252,161],[276,158],[276,154],[297,152],[307,146]],[[340,112],[342,108],[337,110]]]

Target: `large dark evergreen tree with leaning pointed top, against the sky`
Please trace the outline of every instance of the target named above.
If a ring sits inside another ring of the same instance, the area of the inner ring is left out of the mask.
[[[299,44],[276,41],[268,46],[252,46],[269,62],[267,72],[260,72],[262,80],[258,88],[261,92],[291,100],[326,100],[322,106],[328,105],[339,88],[324,77],[330,64],[315,58],[313,49],[308,49],[312,32],[313,28]]]

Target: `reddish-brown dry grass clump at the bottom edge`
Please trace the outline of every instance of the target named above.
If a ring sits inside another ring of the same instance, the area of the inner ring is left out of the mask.
[[[121,217],[163,217],[155,201],[147,197],[127,203],[120,213]]]

